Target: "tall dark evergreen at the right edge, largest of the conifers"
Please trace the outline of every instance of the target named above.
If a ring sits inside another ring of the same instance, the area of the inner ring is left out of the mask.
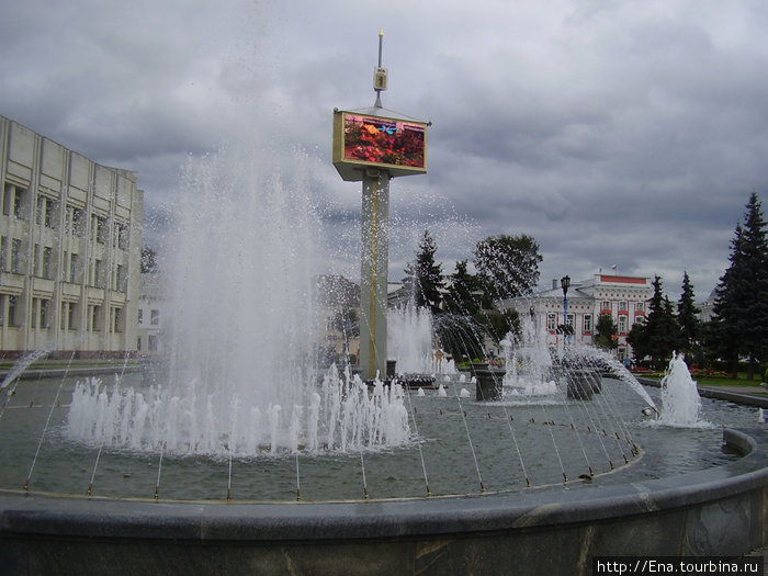
[[[756,193],[746,205],[744,225],[736,225],[731,242],[731,266],[715,289],[711,327],[713,348],[738,371],[738,358],[748,359],[747,380],[755,377],[768,348],[768,239]]]

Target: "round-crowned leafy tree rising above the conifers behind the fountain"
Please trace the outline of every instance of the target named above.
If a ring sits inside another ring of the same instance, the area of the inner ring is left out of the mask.
[[[495,300],[530,294],[539,282],[539,244],[528,236],[489,236],[477,242],[474,264],[484,292]]]

